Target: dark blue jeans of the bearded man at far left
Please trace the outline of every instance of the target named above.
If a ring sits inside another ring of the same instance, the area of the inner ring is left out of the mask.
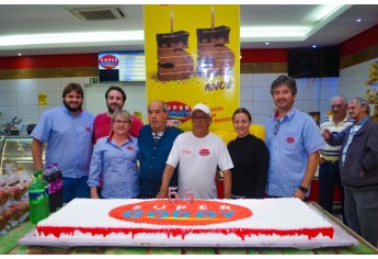
[[[75,198],[91,198],[87,181],[88,177],[77,179],[64,177],[64,203],[68,203]]]

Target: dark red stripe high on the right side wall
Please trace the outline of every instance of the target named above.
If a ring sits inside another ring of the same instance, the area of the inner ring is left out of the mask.
[[[340,55],[344,57],[375,44],[378,44],[378,25],[341,43]]]

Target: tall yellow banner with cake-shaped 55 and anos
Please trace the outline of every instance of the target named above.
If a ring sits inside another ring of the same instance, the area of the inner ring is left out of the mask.
[[[145,5],[147,101],[169,104],[169,119],[192,130],[190,112],[211,109],[210,131],[233,131],[239,108],[238,4]]]

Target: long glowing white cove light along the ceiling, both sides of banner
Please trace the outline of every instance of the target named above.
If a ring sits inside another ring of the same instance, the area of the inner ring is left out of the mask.
[[[329,23],[335,15],[351,8],[352,4],[321,4],[312,15],[311,22],[306,26],[242,26],[240,27],[240,42],[295,42],[305,41],[322,26]],[[313,20],[313,21],[312,21]],[[55,34],[23,34],[0,36],[1,49],[44,48],[47,44],[60,47],[91,46],[106,42],[107,44],[128,45],[142,44],[144,31],[122,32],[90,32],[90,33],[55,33]]]

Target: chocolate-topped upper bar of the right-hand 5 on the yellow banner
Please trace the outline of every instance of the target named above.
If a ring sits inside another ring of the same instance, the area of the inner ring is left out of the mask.
[[[197,29],[198,44],[228,44],[230,27],[221,25],[214,29]]]

